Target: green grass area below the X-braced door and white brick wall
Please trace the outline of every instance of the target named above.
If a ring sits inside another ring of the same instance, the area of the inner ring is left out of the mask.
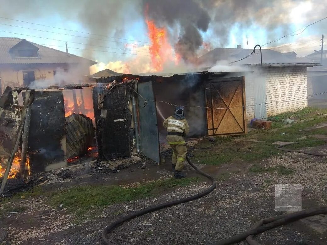
[[[304,108],[295,114],[305,118],[307,113],[316,111],[315,108]],[[289,113],[290,114],[290,113]],[[283,113],[279,117],[289,115]],[[294,112],[293,112],[294,114]],[[303,136],[313,134],[327,134],[325,129],[315,129],[305,131],[304,129],[314,126],[317,123],[326,122],[326,117],[313,116],[311,120],[301,123],[291,124],[290,127],[283,128],[280,122],[273,122],[274,130],[253,130],[247,135],[233,137],[215,137],[215,142],[202,140],[193,150],[194,160],[207,165],[220,165],[234,160],[254,162],[272,155],[282,154],[281,151],[274,148],[272,143],[276,141],[291,141],[296,144],[287,146],[289,149],[301,149],[304,147],[314,147],[324,144],[323,140],[313,138],[301,139]]]

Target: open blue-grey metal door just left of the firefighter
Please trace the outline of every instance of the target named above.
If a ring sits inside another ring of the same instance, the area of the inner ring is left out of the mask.
[[[139,127],[140,127],[140,149],[143,155],[160,162],[159,132],[157,122],[157,109],[154,102],[152,82],[138,84],[138,92],[148,99],[144,106],[144,99],[138,95]],[[150,101],[153,100],[153,101]]]

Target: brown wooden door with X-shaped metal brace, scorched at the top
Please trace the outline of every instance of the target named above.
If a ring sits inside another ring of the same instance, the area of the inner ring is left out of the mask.
[[[232,77],[206,83],[208,135],[246,133],[245,79]]]

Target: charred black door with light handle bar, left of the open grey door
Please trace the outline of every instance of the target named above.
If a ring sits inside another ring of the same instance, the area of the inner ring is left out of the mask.
[[[99,157],[129,156],[131,113],[127,108],[125,86],[115,86],[110,93],[105,93],[101,87],[93,88],[93,103]]]

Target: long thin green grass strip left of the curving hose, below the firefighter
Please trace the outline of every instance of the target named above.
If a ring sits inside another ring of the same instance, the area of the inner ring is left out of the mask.
[[[84,214],[89,212],[91,209],[94,210],[113,203],[124,203],[152,196],[161,189],[187,186],[199,180],[199,177],[184,179],[172,178],[128,188],[116,185],[78,186],[52,193],[50,204],[55,207],[62,205],[63,208],[77,211],[78,214]]]

